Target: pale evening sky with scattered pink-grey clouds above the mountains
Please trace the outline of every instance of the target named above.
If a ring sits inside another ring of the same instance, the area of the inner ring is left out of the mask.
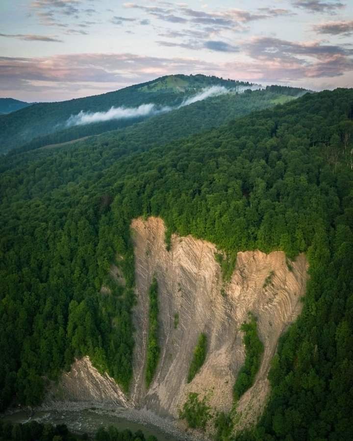
[[[61,101],[175,73],[353,87],[353,0],[0,0],[0,97]]]

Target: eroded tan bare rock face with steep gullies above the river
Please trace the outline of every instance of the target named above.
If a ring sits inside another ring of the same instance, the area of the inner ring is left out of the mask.
[[[301,312],[307,263],[304,255],[290,262],[283,252],[239,252],[230,282],[225,285],[215,260],[215,245],[191,236],[173,235],[170,251],[159,218],[135,219],[131,224],[135,253],[137,305],[134,309],[134,375],[126,397],[107,375],[100,375],[87,357],[77,361],[58,386],[62,399],[110,401],[144,408],[162,417],[177,417],[189,392],[207,395],[214,410],[229,411],[232,388],[244,363],[240,326],[248,313],[257,318],[264,343],[260,370],[251,389],[239,400],[239,426],[254,421],[269,392],[267,374],[283,330]],[[115,267],[113,268],[115,270]],[[121,277],[115,270],[114,275]],[[145,384],[149,296],[153,276],[158,281],[161,348],[149,388]],[[175,326],[175,315],[178,324]],[[207,335],[207,356],[190,384],[187,373],[201,333]]]

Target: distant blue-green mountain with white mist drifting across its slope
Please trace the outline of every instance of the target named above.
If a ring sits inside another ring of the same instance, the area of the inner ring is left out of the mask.
[[[34,144],[26,148],[72,141],[122,128],[153,115],[177,109],[196,99],[225,95],[227,91],[236,100],[236,92],[256,88],[259,86],[215,76],[170,75],[94,97],[34,104],[16,114],[0,117],[1,152],[25,146],[32,141]],[[263,98],[260,95],[256,107],[254,102],[247,105],[244,100],[243,114],[249,109],[281,102],[283,98],[287,99],[285,97],[294,98],[304,91],[272,87],[267,88],[264,95],[266,92],[271,94],[272,101],[270,97]],[[254,100],[256,96],[252,98]],[[264,105],[266,99],[268,102]],[[218,111],[215,112],[216,115],[217,113]],[[230,118],[234,116],[230,112]]]

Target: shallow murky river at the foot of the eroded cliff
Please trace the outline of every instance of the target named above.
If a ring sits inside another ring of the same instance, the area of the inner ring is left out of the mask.
[[[142,430],[145,437],[154,435],[158,441],[180,441],[175,435],[168,434],[160,428],[149,423],[137,423],[122,416],[121,411],[103,410],[97,408],[82,410],[50,410],[36,412],[28,417],[25,411],[7,415],[5,419],[16,423],[25,423],[35,419],[41,423],[66,424],[74,433],[88,433],[93,435],[101,426],[114,426],[119,430],[129,429],[131,432]]]

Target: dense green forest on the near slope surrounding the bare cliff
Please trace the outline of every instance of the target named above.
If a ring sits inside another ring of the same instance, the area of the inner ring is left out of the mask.
[[[279,343],[264,415],[239,439],[352,439],[353,90],[306,94],[168,143],[150,121],[3,158],[1,409],[38,403],[44,378],[84,353],[128,389],[129,225],[154,215],[231,255],[306,252],[303,313]],[[126,286],[102,295],[111,263]]]

